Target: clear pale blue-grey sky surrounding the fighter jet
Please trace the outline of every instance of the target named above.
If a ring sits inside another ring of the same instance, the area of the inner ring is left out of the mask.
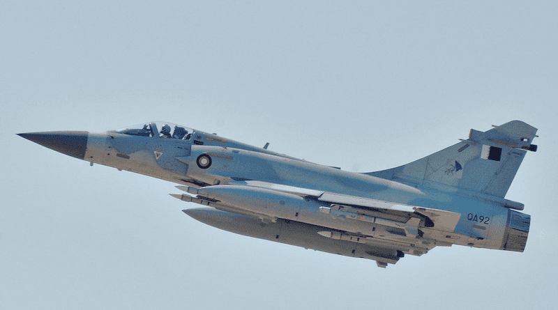
[[[2,309],[551,309],[556,1],[0,1]],[[348,171],[518,119],[524,253],[388,268],[220,231],[174,184],[20,132],[165,120]]]

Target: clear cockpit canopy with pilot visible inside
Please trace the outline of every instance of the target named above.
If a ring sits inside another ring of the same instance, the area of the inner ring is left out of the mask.
[[[114,130],[119,134],[129,134],[140,137],[159,137],[163,139],[190,140],[194,130],[169,122],[154,121],[150,123],[137,124]]]

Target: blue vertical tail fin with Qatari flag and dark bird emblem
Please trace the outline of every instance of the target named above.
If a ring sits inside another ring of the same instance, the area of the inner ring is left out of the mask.
[[[426,185],[441,183],[504,197],[537,129],[511,121],[486,132],[471,130],[462,140],[437,153],[393,169],[366,173],[388,180]]]

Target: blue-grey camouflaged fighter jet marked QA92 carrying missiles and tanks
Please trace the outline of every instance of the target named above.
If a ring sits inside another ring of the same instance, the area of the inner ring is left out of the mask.
[[[511,121],[409,164],[343,171],[151,122],[103,133],[19,134],[93,163],[180,185],[183,210],[216,228],[344,256],[379,267],[405,254],[465,245],[523,251],[531,218],[504,199],[537,129]]]

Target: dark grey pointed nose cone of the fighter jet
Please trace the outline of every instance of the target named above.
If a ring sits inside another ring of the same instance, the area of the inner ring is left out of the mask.
[[[87,147],[87,136],[89,132],[79,131],[57,131],[57,132],[29,132],[17,134],[36,144],[56,150],[62,154],[83,160]]]

